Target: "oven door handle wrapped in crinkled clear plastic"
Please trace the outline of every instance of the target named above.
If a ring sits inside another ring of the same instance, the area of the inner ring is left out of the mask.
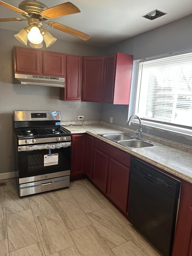
[[[42,145],[29,145],[29,146],[19,146],[18,151],[32,151],[32,150],[42,150],[42,149],[60,149],[67,148],[71,146],[71,142],[60,142],[54,144],[42,144]]]

